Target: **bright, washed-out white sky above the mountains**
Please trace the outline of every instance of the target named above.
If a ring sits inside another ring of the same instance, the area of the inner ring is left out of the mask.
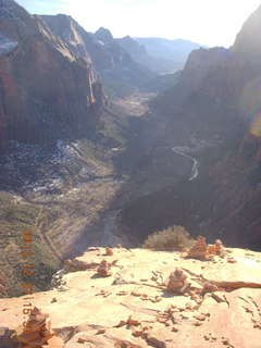
[[[16,0],[30,13],[72,15],[87,32],[103,26],[114,37],[183,38],[233,45],[261,0]]]

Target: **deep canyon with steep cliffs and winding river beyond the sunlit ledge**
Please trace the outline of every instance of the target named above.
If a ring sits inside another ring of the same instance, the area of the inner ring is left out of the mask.
[[[87,247],[137,247],[174,224],[260,250],[260,9],[231,49],[192,51],[157,92],[126,39],[0,4],[2,296],[20,294],[24,229],[37,290]]]

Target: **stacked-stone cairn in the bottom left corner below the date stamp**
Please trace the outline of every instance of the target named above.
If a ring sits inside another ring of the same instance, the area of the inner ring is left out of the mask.
[[[35,307],[26,323],[28,332],[24,332],[25,327],[20,325],[14,330],[14,333],[11,336],[12,340],[23,348],[40,348],[44,345],[52,347],[50,344],[55,334],[51,331],[51,322],[48,318],[49,314],[44,314],[37,307]],[[59,337],[57,338],[60,345],[58,347],[62,347],[63,343]]]

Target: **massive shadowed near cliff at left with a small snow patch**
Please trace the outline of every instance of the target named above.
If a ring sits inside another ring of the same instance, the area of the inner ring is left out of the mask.
[[[0,1],[0,141],[49,144],[99,127],[100,83],[38,16]]]

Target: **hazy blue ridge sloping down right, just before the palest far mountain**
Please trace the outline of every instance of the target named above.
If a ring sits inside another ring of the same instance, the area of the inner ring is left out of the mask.
[[[184,63],[165,58],[157,58],[148,54],[145,46],[139,45],[130,36],[117,39],[119,45],[130,54],[130,57],[144,66],[159,74],[170,74],[184,66]]]

